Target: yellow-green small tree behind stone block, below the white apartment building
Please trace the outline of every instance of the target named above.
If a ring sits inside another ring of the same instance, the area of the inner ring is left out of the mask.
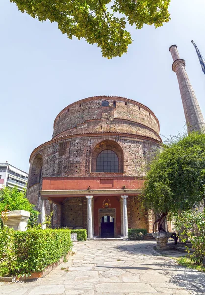
[[[17,187],[5,187],[0,190],[0,216],[2,212],[13,210],[25,210],[30,212],[29,224],[36,223],[38,212],[33,209],[35,205],[31,204],[26,198],[26,190],[18,191]]]

